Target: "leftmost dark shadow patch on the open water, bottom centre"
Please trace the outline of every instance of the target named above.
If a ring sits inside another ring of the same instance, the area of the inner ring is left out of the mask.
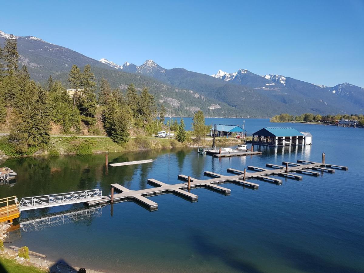
[[[194,234],[192,236],[193,246],[197,252],[205,258],[218,258],[231,268],[245,273],[263,273],[256,268],[253,263],[246,262],[237,258],[241,253],[236,250],[223,248],[220,245],[214,244],[206,236]]]

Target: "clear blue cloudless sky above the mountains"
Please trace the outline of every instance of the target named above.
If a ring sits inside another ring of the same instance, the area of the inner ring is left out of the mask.
[[[364,0],[4,1],[0,30],[94,59],[364,87]]]

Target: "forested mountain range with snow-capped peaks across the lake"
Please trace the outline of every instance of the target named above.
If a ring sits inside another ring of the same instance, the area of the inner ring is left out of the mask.
[[[0,31],[0,44],[9,34]],[[113,88],[125,89],[130,83],[147,86],[171,115],[191,116],[201,109],[206,116],[270,117],[287,112],[337,114],[364,112],[364,89],[349,83],[334,87],[317,86],[282,75],[257,75],[246,69],[233,73],[219,70],[214,75],[166,69],[153,60],[140,66],[99,61],[66,47],[47,43],[34,36],[15,36],[19,63],[28,66],[31,77],[46,82],[49,75],[67,86],[73,64],[91,64],[96,79],[107,78]]]

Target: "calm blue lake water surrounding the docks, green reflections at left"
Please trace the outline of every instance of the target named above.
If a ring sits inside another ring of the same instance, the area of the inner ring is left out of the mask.
[[[243,119],[214,119],[241,125]],[[178,174],[207,179],[203,171],[227,174],[226,169],[265,167],[296,159],[348,166],[302,181],[283,179],[278,186],[254,181],[258,190],[224,184],[224,196],[194,189],[198,202],[171,194],[151,199],[159,209],[150,212],[122,202],[28,224],[10,234],[12,245],[26,245],[77,266],[108,272],[364,272],[364,130],[310,124],[272,124],[245,119],[248,135],[266,126],[290,126],[313,135],[306,147],[255,146],[262,155],[212,158],[196,149],[109,154],[109,162],[158,159],[153,163],[109,167],[105,155],[8,159],[3,165],[18,173],[16,184],[0,186],[0,197],[29,197],[99,188],[110,184],[131,190],[151,187],[147,178],[178,183]],[[185,118],[186,123],[191,119]],[[207,119],[207,124],[211,123]],[[55,207],[22,213],[22,220],[44,217]],[[7,246],[9,244],[6,244]]]

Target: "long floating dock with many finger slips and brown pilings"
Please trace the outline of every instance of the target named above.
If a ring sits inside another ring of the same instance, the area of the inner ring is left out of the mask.
[[[308,161],[298,161],[299,163],[292,163],[292,162],[282,162],[282,164],[286,166],[280,166],[275,164],[266,164],[267,167],[274,168],[273,170],[268,170],[260,167],[255,166],[248,166],[249,169],[253,170],[260,170],[254,173],[244,172],[242,170],[236,169],[227,169],[228,172],[235,173],[235,175],[221,175],[217,173],[213,173],[211,171],[205,171],[205,175],[209,175],[213,178],[211,179],[195,179],[189,177],[187,175],[180,174],[178,175],[178,179],[188,181],[190,183],[178,183],[178,184],[167,184],[156,179],[150,178],[148,179],[148,184],[155,186],[155,188],[151,189],[143,189],[143,190],[129,190],[119,184],[112,184],[112,194],[103,196],[99,200],[94,201],[87,201],[86,203],[89,206],[96,206],[96,205],[105,205],[107,203],[112,202],[123,202],[123,201],[133,201],[136,202],[146,209],[150,211],[154,211],[158,209],[158,204],[147,197],[151,197],[154,195],[159,194],[174,194],[179,197],[182,197],[190,202],[196,202],[198,200],[198,196],[195,194],[190,193],[189,189],[195,188],[205,188],[213,191],[217,191],[224,195],[230,195],[231,190],[225,187],[219,186],[224,183],[234,183],[243,187],[248,187],[251,189],[258,189],[259,185],[253,182],[248,182],[248,179],[259,179],[262,181],[276,183],[278,185],[282,184],[281,179],[269,177],[271,175],[275,176],[283,176],[286,178],[301,180],[302,176],[292,174],[292,173],[301,173],[301,174],[309,174],[309,175],[319,175],[320,173],[311,171],[311,170],[319,170],[319,171],[328,171],[330,173],[334,173],[334,169],[327,169],[325,167],[331,166],[333,168],[348,170],[348,167],[338,166],[338,165],[331,165],[325,163],[318,163],[318,162],[308,162]],[[308,163],[308,164],[307,164]],[[290,167],[288,167],[288,165]],[[279,169],[277,169],[277,167]],[[114,194],[114,190],[118,191],[119,193]]]

